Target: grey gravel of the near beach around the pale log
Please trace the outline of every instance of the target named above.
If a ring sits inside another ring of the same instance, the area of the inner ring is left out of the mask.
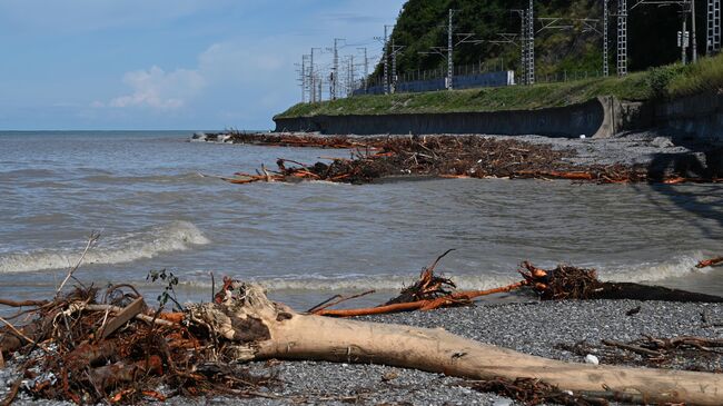
[[[640,313],[626,316],[630,309],[638,306]],[[634,300],[483,303],[472,308],[360,319],[443,327],[482,343],[575,363],[584,363],[586,354],[561,349],[559,344],[572,346],[584,341],[601,364],[606,364],[612,358],[608,357],[610,350],[600,344],[602,339],[630,341],[642,335],[660,338],[682,335],[723,337],[721,304]],[[722,355],[699,362],[704,363],[702,367],[707,370],[723,370]],[[631,363],[635,364],[634,357]],[[682,358],[666,367],[681,368],[689,363],[690,359]],[[517,405],[504,397],[471,390],[462,386],[462,380],[457,378],[380,365],[279,362],[255,363],[251,364],[251,370],[257,374],[278,374],[280,383],[265,389],[268,390],[267,395],[278,398],[244,399],[244,404],[248,405]],[[4,397],[13,379],[10,370],[0,370],[0,397]],[[230,405],[238,402],[228,398],[174,398],[169,404]],[[21,395],[18,404],[62,405],[57,402],[32,402],[26,395]]]

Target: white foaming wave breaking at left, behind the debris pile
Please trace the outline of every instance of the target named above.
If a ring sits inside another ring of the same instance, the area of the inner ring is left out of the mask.
[[[110,236],[101,239],[97,247],[88,251],[83,264],[123,264],[143,258],[153,258],[162,252],[190,249],[194,245],[210,241],[192,224],[174,221],[150,227],[138,232]],[[48,269],[63,269],[75,265],[82,248],[40,249],[29,252],[14,252],[0,256],[0,273],[29,273]]]

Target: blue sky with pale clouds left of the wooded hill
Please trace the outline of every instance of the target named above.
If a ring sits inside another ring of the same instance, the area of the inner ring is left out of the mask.
[[[270,129],[304,53],[378,58],[404,2],[0,0],[0,130]]]

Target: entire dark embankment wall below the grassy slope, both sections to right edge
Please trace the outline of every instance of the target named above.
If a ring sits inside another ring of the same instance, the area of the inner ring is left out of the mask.
[[[313,116],[275,118],[276,131],[335,135],[493,133],[605,138],[657,128],[696,141],[723,145],[723,93],[691,96],[656,105],[602,97],[585,103],[494,112]]]

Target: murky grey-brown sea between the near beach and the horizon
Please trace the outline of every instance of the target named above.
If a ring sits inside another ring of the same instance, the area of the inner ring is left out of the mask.
[[[601,279],[723,294],[723,186],[567,180],[231,185],[218,176],[348,150],[190,142],[194,131],[0,132],[0,298],[131,284],[155,303],[166,269],[180,301],[225,276],[304,310],[334,295],[379,304],[437,266],[463,289],[519,280],[523,260]],[[529,300],[525,295],[488,300]]]

